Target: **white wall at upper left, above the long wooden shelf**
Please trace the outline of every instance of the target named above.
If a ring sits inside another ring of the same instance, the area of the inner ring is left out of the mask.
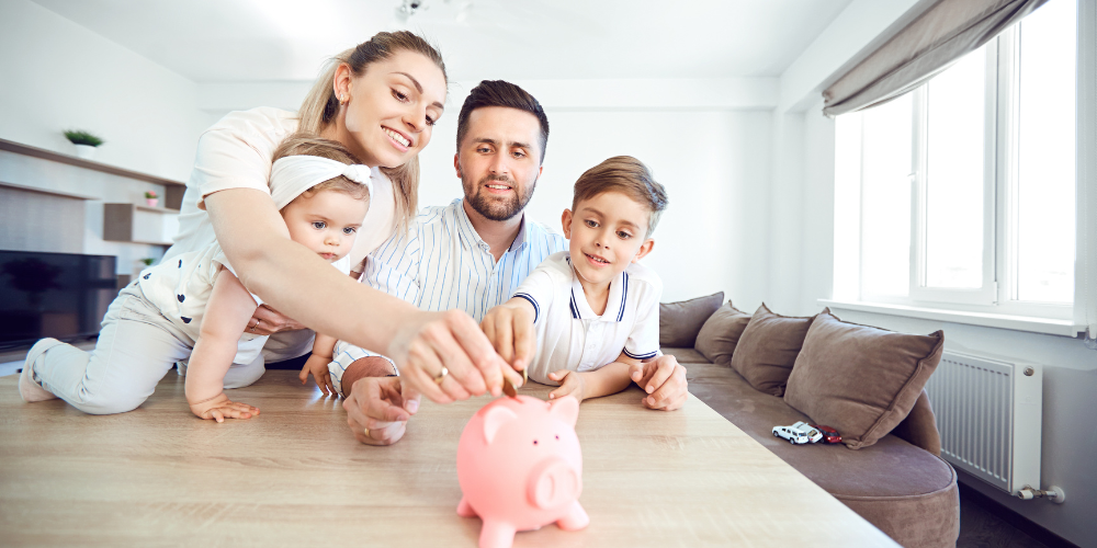
[[[72,153],[61,135],[106,140],[97,160],[185,181],[207,118],[190,80],[27,0],[0,2],[0,138]]]

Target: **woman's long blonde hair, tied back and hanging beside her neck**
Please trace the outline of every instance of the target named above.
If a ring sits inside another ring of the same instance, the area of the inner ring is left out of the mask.
[[[335,80],[336,70],[340,65],[347,64],[355,77],[361,77],[365,73],[366,67],[388,59],[397,52],[415,52],[427,57],[442,70],[442,77],[446,78],[446,83],[449,83],[442,56],[429,42],[408,31],[381,32],[367,42],[363,42],[328,61],[319,79],[313,84],[313,89],[301,104],[301,111],[297,113],[301,119],[297,130],[319,135],[335,119],[339,112],[339,99],[336,98],[331,82]],[[396,168],[382,168],[381,171],[393,181],[397,228],[399,231],[404,231],[418,209],[419,157],[416,156],[407,163]]]

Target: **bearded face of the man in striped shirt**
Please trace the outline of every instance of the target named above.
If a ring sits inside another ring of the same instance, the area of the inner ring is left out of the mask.
[[[506,106],[476,109],[453,167],[476,213],[490,220],[513,218],[533,197],[541,176],[538,117]]]

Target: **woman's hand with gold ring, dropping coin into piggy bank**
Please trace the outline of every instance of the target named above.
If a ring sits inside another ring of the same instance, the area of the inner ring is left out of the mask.
[[[419,312],[416,321],[400,327],[388,356],[407,386],[438,403],[484,392],[499,396],[504,376],[514,386],[522,384],[522,376],[499,357],[476,320],[462,310]]]

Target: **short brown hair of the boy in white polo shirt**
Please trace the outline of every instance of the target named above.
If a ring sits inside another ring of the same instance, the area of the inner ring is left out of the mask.
[[[647,235],[644,238],[649,238],[669,203],[667,190],[655,181],[652,170],[631,156],[614,156],[590,168],[575,182],[572,210],[576,210],[579,202],[610,191],[620,192],[647,207],[651,215],[647,218]]]

